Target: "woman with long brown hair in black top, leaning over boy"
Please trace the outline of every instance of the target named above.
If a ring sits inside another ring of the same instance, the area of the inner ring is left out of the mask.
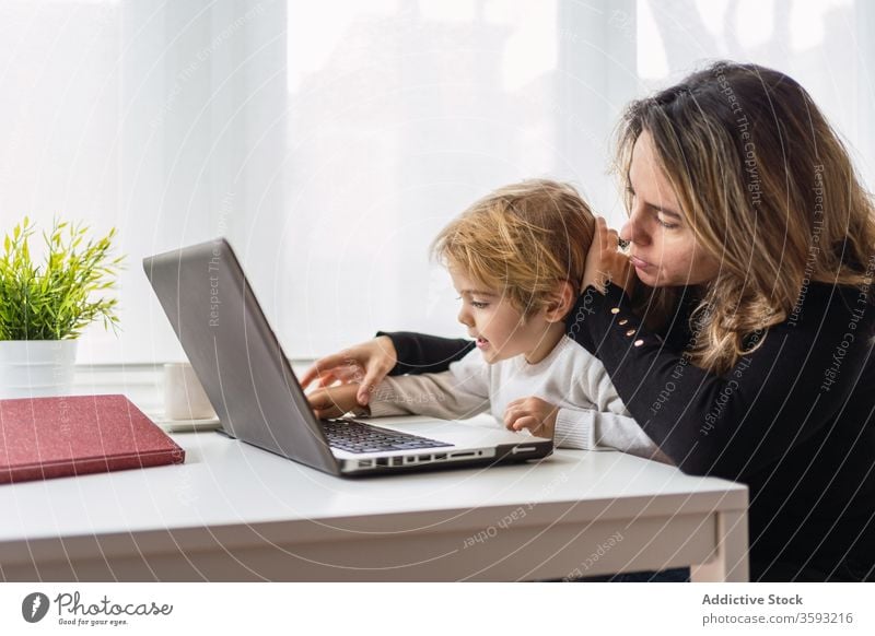
[[[875,207],[848,152],[795,81],[730,62],[632,103],[618,145],[629,221],[599,220],[569,335],[681,470],[749,486],[752,580],[873,580]],[[304,381],[361,366],[364,401],[465,351],[382,335]]]

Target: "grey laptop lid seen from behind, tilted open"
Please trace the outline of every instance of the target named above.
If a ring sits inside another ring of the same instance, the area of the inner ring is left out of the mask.
[[[224,238],[143,259],[224,431],[339,474],[292,368]]]

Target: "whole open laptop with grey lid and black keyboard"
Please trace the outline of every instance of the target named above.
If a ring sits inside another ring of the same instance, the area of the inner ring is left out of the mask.
[[[341,476],[540,459],[551,439],[444,420],[318,420],[224,238],[143,269],[225,435]],[[409,420],[409,419],[408,419]]]

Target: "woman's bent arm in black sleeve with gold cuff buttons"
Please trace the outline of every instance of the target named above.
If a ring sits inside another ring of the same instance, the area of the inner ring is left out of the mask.
[[[723,376],[649,332],[620,287],[588,287],[569,337],[602,360],[641,427],[682,470],[738,479],[824,432],[868,360],[875,309],[856,290],[812,284],[794,322],[773,327]]]

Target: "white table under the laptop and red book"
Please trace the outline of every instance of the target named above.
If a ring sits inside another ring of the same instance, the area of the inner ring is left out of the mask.
[[[178,434],[184,466],[0,486],[5,580],[747,580],[747,488],[619,452],[341,480]]]

